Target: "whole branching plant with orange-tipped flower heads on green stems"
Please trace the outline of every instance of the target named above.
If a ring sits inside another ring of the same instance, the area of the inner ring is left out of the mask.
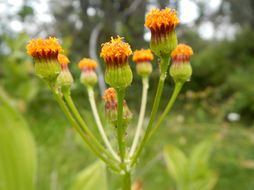
[[[178,23],[176,11],[170,8],[153,9],[146,16],[145,26],[151,30],[152,34],[151,50],[136,50],[132,57],[136,64],[136,72],[142,79],[143,90],[139,118],[130,147],[126,145],[126,138],[129,138],[126,135],[126,129],[132,119],[132,113],[125,100],[125,93],[133,78],[128,62],[132,50],[130,45],[119,36],[112,37],[109,42],[102,44],[100,57],[106,66],[105,81],[110,86],[103,96],[105,115],[115,127],[118,142],[117,150],[113,148],[105,133],[104,124],[96,107],[94,88],[97,83],[95,72],[97,63],[89,58],[84,58],[79,62],[79,68],[81,70],[80,82],[87,89],[91,110],[101,139],[95,137],[72,100],[71,84],[73,78],[68,69],[70,61],[65,55],[60,54],[62,48],[59,41],[50,37],[31,40],[27,45],[27,52],[35,62],[36,75],[48,84],[67,119],[94,154],[104,161],[108,168],[122,176],[122,189],[124,190],[131,189],[131,173],[142,150],[171,110],[183,84],[190,79],[192,74],[190,56],[193,51],[190,46],[177,45],[175,28]],[[152,73],[151,61],[154,59],[152,53],[159,57],[160,76],[148,125],[143,126],[149,76]],[[174,91],[164,111],[156,120],[168,73],[175,82]]]

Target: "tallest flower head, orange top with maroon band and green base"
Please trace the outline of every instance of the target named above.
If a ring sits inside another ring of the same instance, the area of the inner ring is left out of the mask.
[[[174,9],[153,9],[146,15],[145,26],[151,30],[151,50],[159,57],[170,55],[177,45],[175,27],[179,19]]]

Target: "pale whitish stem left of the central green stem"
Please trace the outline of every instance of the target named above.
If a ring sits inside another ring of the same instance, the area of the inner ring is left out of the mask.
[[[106,147],[108,148],[108,150],[114,156],[114,158],[120,162],[119,156],[115,153],[114,149],[112,148],[112,146],[111,146],[111,144],[110,144],[110,142],[107,138],[107,135],[106,135],[106,133],[103,129],[103,126],[102,126],[102,123],[101,123],[101,120],[100,120],[100,117],[99,117],[99,114],[98,114],[98,110],[97,110],[97,107],[96,107],[95,99],[94,99],[93,88],[91,88],[91,87],[87,88],[87,92],[88,92],[89,102],[90,102],[90,105],[91,105],[91,108],[92,108],[93,116],[94,116],[96,125],[98,127],[98,130],[100,132],[101,138],[104,141],[104,143],[105,143]]]

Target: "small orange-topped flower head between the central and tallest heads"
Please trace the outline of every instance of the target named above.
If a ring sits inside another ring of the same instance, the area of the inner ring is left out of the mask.
[[[151,61],[153,54],[150,49],[136,50],[133,54],[132,60],[136,63],[136,70],[141,77],[148,77],[153,71]]]

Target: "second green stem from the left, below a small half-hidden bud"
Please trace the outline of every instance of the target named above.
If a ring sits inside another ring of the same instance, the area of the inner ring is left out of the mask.
[[[98,142],[96,137],[93,135],[93,133],[90,131],[90,129],[87,127],[85,121],[82,119],[81,115],[79,114],[79,111],[77,110],[75,104],[72,101],[71,96],[68,93],[64,93],[65,101],[70,108],[70,110],[73,113],[74,118],[78,121],[78,123],[82,126],[84,131],[87,133],[87,135],[90,137],[90,141],[94,144],[94,146],[98,147],[98,149],[101,151],[101,154],[107,155],[107,157],[115,162],[118,162],[112,155]]]

